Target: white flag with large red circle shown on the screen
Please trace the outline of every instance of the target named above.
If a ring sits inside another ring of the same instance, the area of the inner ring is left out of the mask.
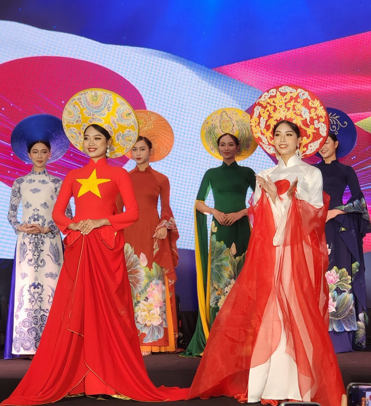
[[[106,87],[135,109],[147,108],[165,117],[174,130],[171,154],[153,167],[169,177],[171,207],[180,232],[179,248],[194,248],[193,205],[203,174],[220,164],[202,147],[204,119],[222,106],[246,110],[258,89],[206,67],[163,52],[104,45],[82,37],[0,22],[0,257],[14,255],[15,235],[7,222],[10,186],[30,166],[12,155],[11,130],[24,117],[45,112],[61,117],[64,104],[78,90]],[[102,66],[103,65],[103,66]],[[126,159],[115,162],[133,168]],[[87,158],[70,147],[63,159],[50,164],[64,177]],[[271,165],[260,149],[243,164],[257,171]]]

